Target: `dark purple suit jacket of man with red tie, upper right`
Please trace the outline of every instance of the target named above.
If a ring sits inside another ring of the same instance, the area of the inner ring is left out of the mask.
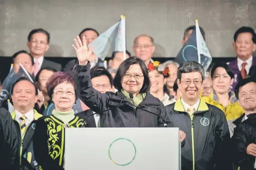
[[[231,90],[234,91],[235,86],[243,78],[242,78],[240,70],[237,66],[237,58],[234,61],[228,62],[227,64],[228,64],[228,66],[230,67],[230,69],[232,70],[232,72],[235,76],[234,83],[233,83],[233,85],[231,85]],[[253,56],[253,63],[252,63],[251,68],[254,67],[254,66],[256,66],[256,57],[255,56]],[[250,68],[248,76],[252,76],[252,74],[253,74],[251,68]]]

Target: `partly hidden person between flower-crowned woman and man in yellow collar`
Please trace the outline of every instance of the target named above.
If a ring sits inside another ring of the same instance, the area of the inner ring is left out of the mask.
[[[169,68],[170,70],[169,77],[165,78],[166,79],[165,81],[166,81],[166,87],[169,91],[169,95],[172,95],[172,96],[174,96],[173,84],[177,79],[178,67],[179,67],[179,64],[172,60],[168,60],[163,64],[159,65],[160,70],[164,70],[165,68]]]

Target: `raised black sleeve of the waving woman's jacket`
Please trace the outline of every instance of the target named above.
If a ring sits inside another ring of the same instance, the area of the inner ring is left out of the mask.
[[[113,93],[103,94],[92,87],[90,67],[90,62],[85,66],[77,63],[74,71],[75,90],[82,102],[92,111],[98,113],[104,110]]]

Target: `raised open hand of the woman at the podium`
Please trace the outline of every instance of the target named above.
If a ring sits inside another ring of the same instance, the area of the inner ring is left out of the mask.
[[[92,55],[92,50],[94,46],[87,48],[86,40],[84,36],[83,36],[83,43],[81,42],[79,36],[77,36],[76,39],[74,39],[74,43],[76,47],[73,44],[72,44],[72,47],[76,52],[79,65],[86,65],[88,63],[90,56]]]

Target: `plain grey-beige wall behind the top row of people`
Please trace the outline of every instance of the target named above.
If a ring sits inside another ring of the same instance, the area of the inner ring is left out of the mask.
[[[206,32],[213,57],[234,56],[234,32],[241,26],[256,29],[256,0],[0,0],[0,56],[27,49],[34,28],[51,34],[46,56],[71,57],[73,38],[92,27],[100,33],[126,16],[127,49],[133,39],[148,34],[155,40],[155,57],[175,57],[184,29],[194,25]]]

